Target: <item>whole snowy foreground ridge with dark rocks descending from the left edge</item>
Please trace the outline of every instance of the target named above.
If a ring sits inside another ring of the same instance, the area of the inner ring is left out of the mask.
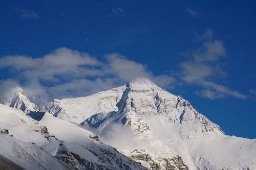
[[[38,123],[22,110],[0,104],[1,132],[4,129],[13,137],[0,134],[0,154],[25,169],[144,169],[90,138],[93,133],[49,113]]]

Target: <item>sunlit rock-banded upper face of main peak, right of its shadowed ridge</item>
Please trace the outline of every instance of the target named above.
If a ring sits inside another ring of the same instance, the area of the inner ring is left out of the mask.
[[[220,127],[199,114],[186,100],[170,94],[147,79],[137,79],[127,85],[125,107],[126,124],[147,136],[148,127],[156,125],[157,120],[174,124],[195,135],[214,135],[222,133]],[[187,127],[189,127],[189,130]],[[153,130],[153,129],[152,129]],[[155,129],[154,131],[156,131]],[[187,138],[189,134],[184,134]],[[191,134],[193,135],[193,134]]]

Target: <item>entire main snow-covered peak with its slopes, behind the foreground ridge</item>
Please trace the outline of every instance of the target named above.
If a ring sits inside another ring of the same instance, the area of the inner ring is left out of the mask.
[[[147,79],[75,99],[52,115],[99,134],[148,168],[255,169],[256,139],[225,135],[189,102]]]

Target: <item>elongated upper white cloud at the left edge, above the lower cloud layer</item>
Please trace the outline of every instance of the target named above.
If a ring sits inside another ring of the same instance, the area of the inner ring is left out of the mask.
[[[88,54],[62,47],[41,58],[28,56],[6,56],[0,59],[0,68],[11,67],[19,71],[20,77],[60,81],[60,79],[100,75],[100,62]]]

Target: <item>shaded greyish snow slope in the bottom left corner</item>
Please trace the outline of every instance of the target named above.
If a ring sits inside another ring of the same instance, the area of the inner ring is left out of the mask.
[[[0,134],[0,154],[24,169],[71,169],[36,144]]]

